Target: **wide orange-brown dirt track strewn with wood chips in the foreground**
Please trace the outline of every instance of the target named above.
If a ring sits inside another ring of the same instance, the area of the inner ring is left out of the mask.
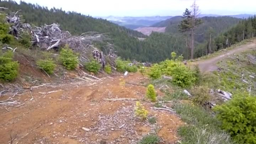
[[[140,74],[115,76],[88,84],[72,82],[48,85],[15,95],[20,107],[0,105],[0,143],[137,143],[155,132],[162,143],[174,143],[183,123],[168,111],[157,111],[154,103],[142,100],[147,78]],[[50,94],[41,94],[63,90]],[[161,92],[158,92],[161,97]],[[0,100],[13,95],[4,95]],[[105,98],[135,98],[157,118],[157,124],[134,117],[135,101]],[[83,128],[84,127],[84,128]]]

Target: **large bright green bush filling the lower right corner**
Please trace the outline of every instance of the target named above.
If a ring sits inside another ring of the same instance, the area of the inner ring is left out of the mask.
[[[227,103],[214,107],[222,129],[239,143],[256,143],[256,97],[234,95]]]

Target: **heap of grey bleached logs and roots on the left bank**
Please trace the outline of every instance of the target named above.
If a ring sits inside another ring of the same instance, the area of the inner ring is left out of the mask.
[[[24,23],[22,15],[17,12],[12,12],[6,15],[6,22],[10,25],[9,34],[15,38],[22,38],[22,33],[27,33],[31,36],[31,43],[34,46],[40,47],[42,50],[59,49],[59,47],[68,44],[69,47],[79,53],[80,64],[90,61],[92,56],[95,60],[101,63],[102,68],[106,66],[105,57],[108,57],[110,65],[114,65],[117,55],[112,44],[107,44],[104,49],[106,55],[102,51],[93,46],[93,42],[102,42],[107,40],[106,34],[95,32],[83,33],[80,36],[73,36],[69,31],[62,31],[58,23],[51,25],[43,25],[41,27],[31,26],[29,23]],[[6,48],[6,47],[5,47]],[[11,47],[10,47],[11,48]],[[9,48],[9,49],[10,49]]]

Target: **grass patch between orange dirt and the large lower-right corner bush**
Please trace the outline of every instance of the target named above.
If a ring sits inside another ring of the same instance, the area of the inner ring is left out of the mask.
[[[179,128],[181,143],[208,144],[234,143],[230,136],[220,129],[220,123],[210,111],[188,103],[175,103],[174,109],[188,125]]]

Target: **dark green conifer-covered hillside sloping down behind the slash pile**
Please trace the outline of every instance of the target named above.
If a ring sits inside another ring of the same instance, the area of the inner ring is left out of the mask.
[[[71,34],[80,35],[86,31],[106,33],[108,42],[115,45],[117,54],[124,59],[157,62],[170,58],[172,51],[186,54],[186,47],[182,38],[165,34],[153,34],[145,41],[137,37],[146,37],[138,31],[126,29],[103,19],[95,19],[76,12],[66,12],[61,9],[47,9],[47,7],[21,2],[0,1],[0,6],[9,8],[9,12],[21,10],[20,13],[28,23],[36,26],[58,22],[61,29]],[[103,45],[98,45],[103,50]],[[105,52],[105,50],[103,50]]]

